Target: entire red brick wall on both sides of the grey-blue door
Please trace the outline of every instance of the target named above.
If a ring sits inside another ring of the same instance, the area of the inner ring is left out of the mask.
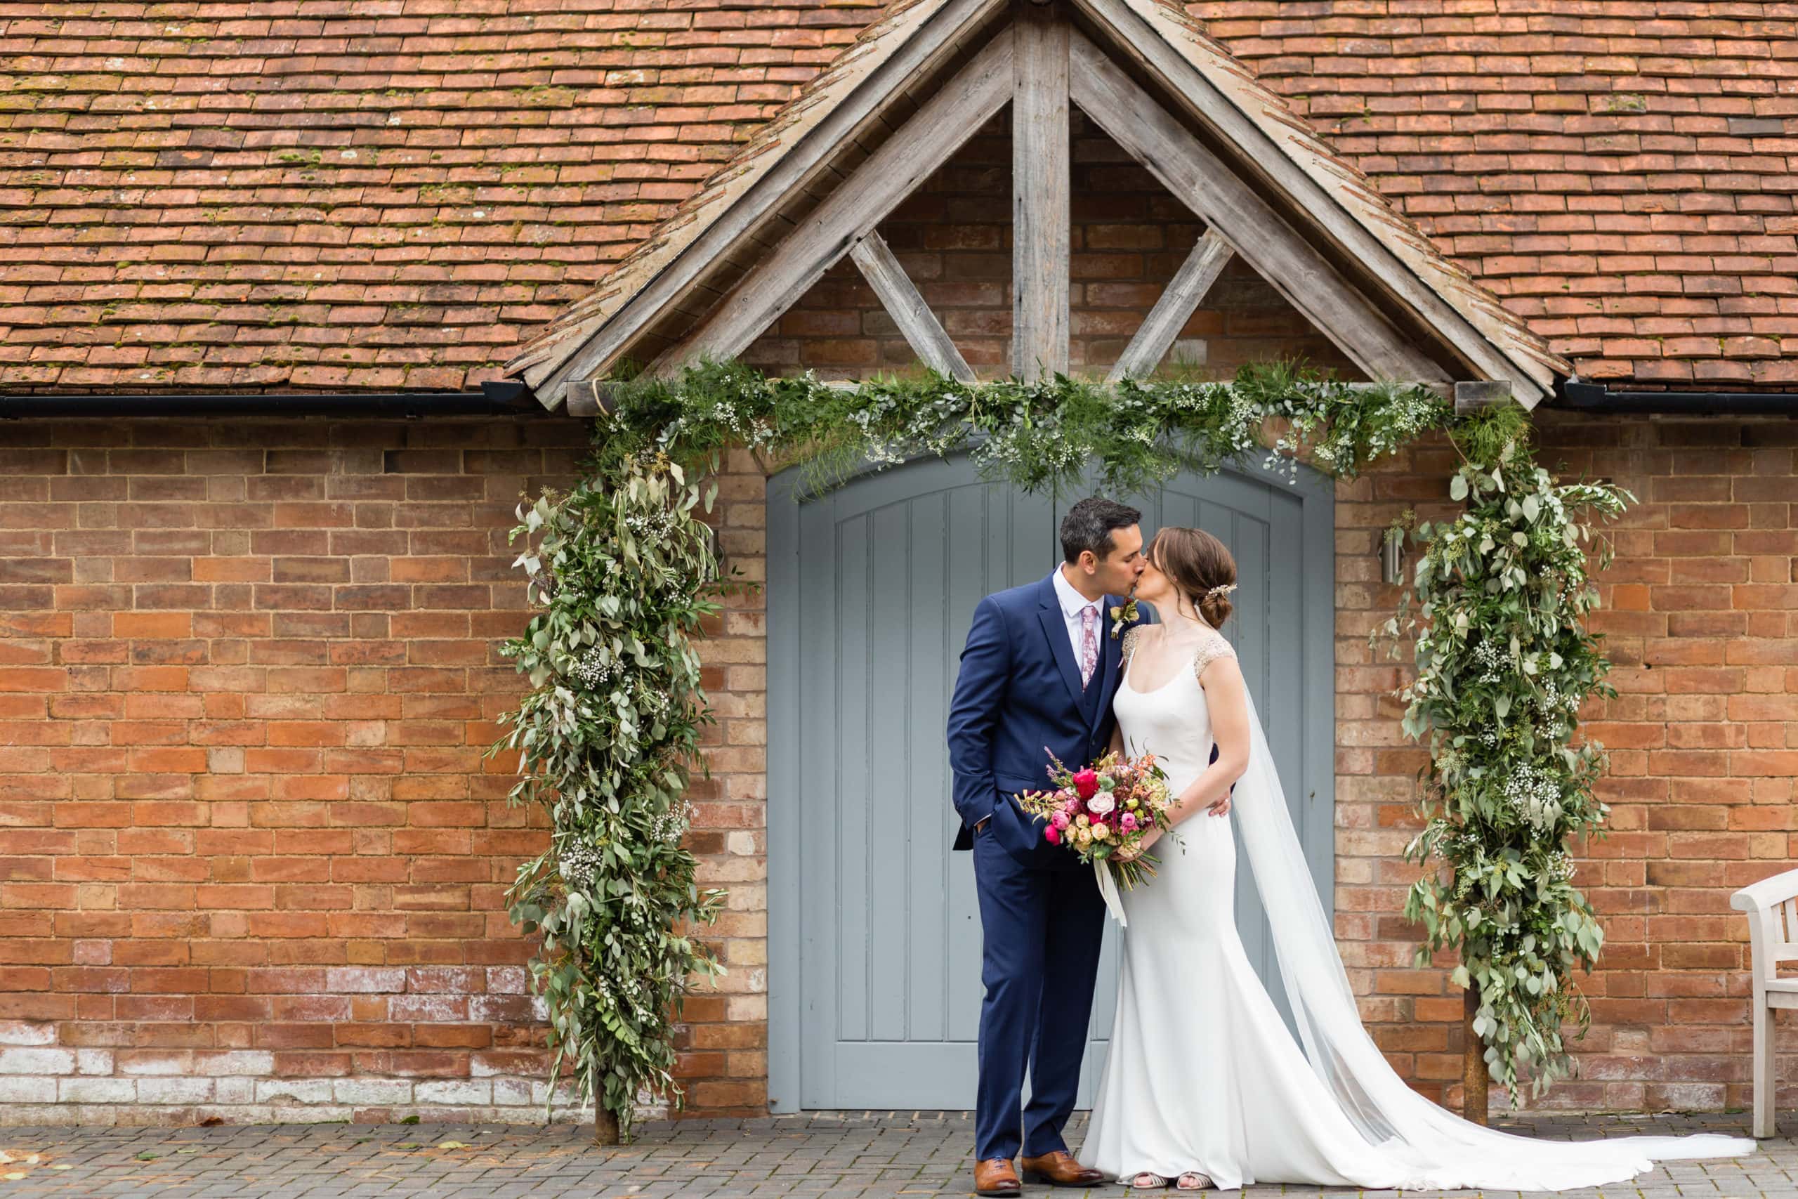
[[[1609,944],[1584,980],[1582,1077],[1546,1104],[1740,1106],[1746,926],[1728,893],[1793,852],[1798,437],[1640,417],[1544,431],[1550,462],[1643,498],[1598,617],[1624,692],[1593,714],[1613,836],[1579,874]],[[0,1120],[538,1118],[529,946],[502,895],[541,829],[503,804],[511,762],[480,751],[518,696],[494,653],[527,618],[512,503],[574,475],[584,426],[7,433]],[[730,467],[723,545],[761,581],[762,475],[748,455]],[[1411,969],[1399,917],[1420,759],[1386,696],[1399,669],[1366,647],[1393,599],[1374,537],[1440,502],[1447,469],[1420,448],[1338,491],[1336,906],[1375,1037],[1455,1102],[1460,998],[1446,964]],[[730,890],[708,933],[730,974],[681,1030],[696,1113],[766,1102],[761,606],[732,599],[705,649],[721,719],[690,845]]]

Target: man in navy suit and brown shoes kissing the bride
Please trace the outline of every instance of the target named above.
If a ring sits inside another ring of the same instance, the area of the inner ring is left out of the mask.
[[[1075,503],[1061,521],[1064,563],[1041,582],[980,600],[949,701],[949,769],[962,818],[955,848],[973,848],[980,897],[980,1084],[975,1192],[1019,1194],[1023,1174],[1093,1186],[1061,1129],[1073,1111],[1093,1008],[1104,901],[1093,872],[1043,839],[1018,805],[1048,791],[1048,751],[1068,769],[1111,742],[1118,638],[1111,606],[1142,573],[1142,514],[1111,500]],[[1025,1068],[1030,1104],[1018,1102]]]

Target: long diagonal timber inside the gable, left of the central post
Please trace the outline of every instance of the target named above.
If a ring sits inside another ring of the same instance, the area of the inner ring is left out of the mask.
[[[1001,29],[649,370],[672,376],[705,354],[714,360],[741,354],[1000,111],[1010,92],[1012,32]]]

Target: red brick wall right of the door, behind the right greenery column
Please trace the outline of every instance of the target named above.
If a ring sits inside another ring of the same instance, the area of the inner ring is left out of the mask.
[[[1607,838],[1584,847],[1575,881],[1606,947],[1582,978],[1593,1025],[1579,1079],[1539,1104],[1717,1109],[1748,1104],[1748,926],[1730,893],[1798,856],[1798,525],[1791,422],[1573,419],[1546,413],[1543,462],[1609,478],[1642,503],[1615,528],[1598,577],[1618,697],[1588,710],[1611,748]],[[1338,489],[1338,938],[1363,1016],[1393,1064],[1460,1102],[1460,992],[1447,956],[1411,969],[1399,917],[1415,866],[1420,751],[1384,692],[1397,663],[1372,658],[1368,629],[1395,588],[1379,582],[1375,536],[1411,505],[1446,498],[1449,453],[1424,448]],[[1793,1079],[1782,1037],[1782,1075]],[[1798,1098],[1787,1086],[1785,1104]]]

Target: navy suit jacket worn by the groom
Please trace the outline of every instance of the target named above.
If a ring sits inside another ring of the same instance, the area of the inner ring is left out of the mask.
[[[1081,769],[1109,746],[1122,656],[1122,633],[1111,636],[1118,602],[1113,595],[1102,600],[1093,703],[1084,701],[1054,573],[975,608],[949,701],[949,769],[962,818],[955,848],[971,848],[973,827],[991,816],[989,832],[1023,865],[1079,866],[1073,854],[1043,839],[1043,823],[1025,814],[1016,795],[1054,787],[1045,748],[1068,769]]]

